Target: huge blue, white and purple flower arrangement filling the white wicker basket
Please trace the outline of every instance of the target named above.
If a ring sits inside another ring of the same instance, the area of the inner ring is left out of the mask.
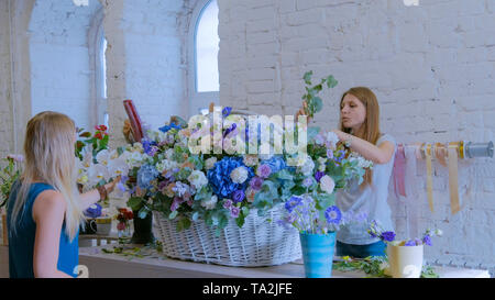
[[[326,81],[334,87],[331,79]],[[188,229],[198,220],[221,230],[229,219],[242,226],[251,210],[264,215],[277,204],[311,199],[319,220],[330,218],[328,230],[336,230],[333,225],[340,221],[334,219],[340,211],[334,207],[333,191],[353,178],[361,182],[372,163],[351,152],[334,133],[320,132],[318,127],[307,129],[307,151],[302,154],[277,154],[275,143],[270,144],[274,153],[232,154],[232,140],[235,145],[251,148],[263,136],[261,126],[239,122],[231,112],[232,108],[221,110],[223,126],[215,122],[215,113],[205,116],[210,122],[207,119],[196,126],[174,120],[160,131],[146,131],[141,143],[128,145],[122,154],[129,165],[129,174],[123,177],[131,195],[128,205],[139,211],[140,218],[160,211],[169,220],[177,220],[178,230]],[[219,129],[220,138],[216,138]],[[296,129],[296,136],[306,130]],[[274,125],[274,132],[277,131],[282,129]],[[189,144],[197,135],[212,137],[213,149],[223,151],[193,153]],[[298,165],[292,164],[295,159]],[[319,224],[322,229],[323,223]]]

